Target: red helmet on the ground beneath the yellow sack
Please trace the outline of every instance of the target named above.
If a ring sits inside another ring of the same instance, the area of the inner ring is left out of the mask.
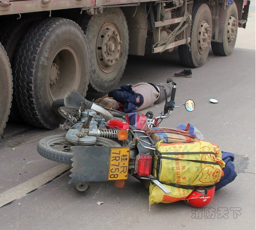
[[[198,188],[185,198],[185,202],[193,207],[204,207],[213,200],[215,186]]]

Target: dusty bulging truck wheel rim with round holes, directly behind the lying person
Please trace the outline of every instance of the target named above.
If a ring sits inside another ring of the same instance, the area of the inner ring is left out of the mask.
[[[118,64],[121,54],[121,34],[114,22],[101,27],[97,38],[96,57],[101,71],[112,72]]]

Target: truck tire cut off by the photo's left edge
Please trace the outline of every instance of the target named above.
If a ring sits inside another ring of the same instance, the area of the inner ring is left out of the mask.
[[[12,105],[12,70],[6,51],[0,43],[0,135],[6,127]]]

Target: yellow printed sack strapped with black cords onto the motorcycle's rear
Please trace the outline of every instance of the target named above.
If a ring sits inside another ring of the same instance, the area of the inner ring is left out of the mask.
[[[215,185],[223,175],[225,162],[218,145],[198,140],[193,143],[158,142],[155,147],[153,176],[171,190],[170,202],[184,199],[193,187]],[[150,185],[150,204],[166,202],[166,196]]]

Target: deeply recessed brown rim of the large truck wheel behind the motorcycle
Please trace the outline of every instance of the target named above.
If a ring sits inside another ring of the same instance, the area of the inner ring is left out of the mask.
[[[63,98],[68,91],[78,89],[81,61],[72,45],[63,45],[57,52],[49,71],[49,91],[52,100]]]

